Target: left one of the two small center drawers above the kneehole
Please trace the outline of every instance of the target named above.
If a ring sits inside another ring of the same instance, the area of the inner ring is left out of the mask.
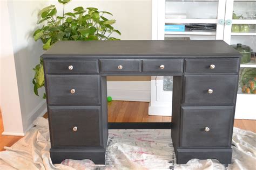
[[[140,72],[140,60],[100,60],[100,72]]]

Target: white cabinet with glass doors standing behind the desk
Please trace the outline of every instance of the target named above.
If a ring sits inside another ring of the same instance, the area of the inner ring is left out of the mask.
[[[186,29],[165,31],[165,25],[185,25]],[[250,46],[255,53],[256,1],[152,0],[152,39],[180,38],[221,39],[230,45]],[[240,67],[256,69],[256,62]],[[165,88],[168,81],[172,83],[171,76],[152,76],[149,115],[171,116],[172,89]],[[256,94],[239,92],[235,118],[256,119],[255,101]]]

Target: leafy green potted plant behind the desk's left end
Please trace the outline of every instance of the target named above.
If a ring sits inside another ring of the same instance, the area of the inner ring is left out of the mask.
[[[97,8],[78,6],[72,12],[65,12],[65,4],[70,0],[58,0],[63,4],[62,16],[57,16],[55,5],[46,6],[39,13],[41,17],[38,24],[46,23],[33,33],[33,38],[43,42],[43,49],[49,49],[59,40],[119,40],[112,37],[112,33],[121,34],[112,26],[114,19],[107,19],[104,15],[111,15],[107,11],[99,11]],[[38,95],[38,89],[44,87],[43,60],[35,68],[33,78],[34,93]],[[45,94],[43,98],[45,98]]]

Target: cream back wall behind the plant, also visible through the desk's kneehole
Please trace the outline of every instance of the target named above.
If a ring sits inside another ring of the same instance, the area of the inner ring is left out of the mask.
[[[62,4],[51,1],[58,11],[62,10]],[[65,5],[65,11],[72,11],[77,6],[95,7],[99,11],[109,11],[112,16],[105,15],[109,19],[116,19],[113,25],[122,35],[115,34],[121,40],[150,40],[151,39],[151,0],[73,0]],[[61,10],[59,10],[61,9]],[[59,15],[62,12],[59,13]],[[126,101],[150,101],[151,93],[150,76],[109,76],[107,77],[107,95],[113,100]]]

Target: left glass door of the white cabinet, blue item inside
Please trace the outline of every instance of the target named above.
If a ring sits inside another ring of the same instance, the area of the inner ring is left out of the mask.
[[[152,5],[154,1],[158,2],[157,39],[223,39],[225,1],[153,0]]]

